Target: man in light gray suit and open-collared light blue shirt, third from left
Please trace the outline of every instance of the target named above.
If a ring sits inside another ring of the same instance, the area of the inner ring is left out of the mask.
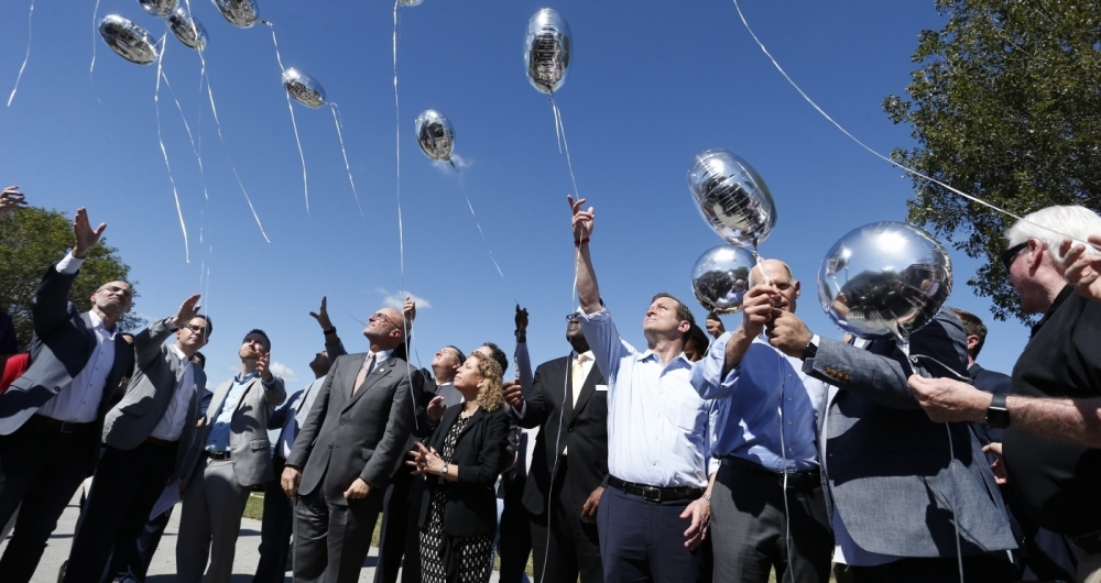
[[[246,334],[238,355],[241,373],[215,389],[185,465],[176,542],[179,583],[229,583],[249,492],[272,476],[268,420],[286,389],[272,376],[271,340],[263,330]]]

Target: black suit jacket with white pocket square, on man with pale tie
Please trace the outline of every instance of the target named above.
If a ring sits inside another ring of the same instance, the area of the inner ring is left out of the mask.
[[[593,365],[585,384],[574,387],[569,364],[570,358],[563,356],[535,370],[532,395],[520,420],[527,429],[539,427],[523,498],[524,507],[534,515],[546,512],[548,492],[565,499],[584,501],[608,477],[607,383],[600,369]],[[597,391],[597,385],[606,385],[604,391]],[[574,406],[575,391],[580,391],[577,406]],[[566,481],[552,488],[555,460],[567,447]],[[582,505],[584,502],[577,504],[570,515],[580,515]]]

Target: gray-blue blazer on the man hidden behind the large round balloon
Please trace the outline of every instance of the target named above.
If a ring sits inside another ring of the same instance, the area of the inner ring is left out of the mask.
[[[966,334],[953,314],[941,311],[909,341],[918,374],[966,374]],[[836,509],[853,541],[881,554],[955,557],[953,516],[963,554],[1016,548],[970,425],[933,422],[906,386],[905,362],[894,341],[860,350],[822,339],[804,364],[836,386],[819,416],[830,516]]]

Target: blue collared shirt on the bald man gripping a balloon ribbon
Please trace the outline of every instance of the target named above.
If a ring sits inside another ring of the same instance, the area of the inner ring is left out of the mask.
[[[815,430],[826,384],[803,372],[803,361],[753,339],[742,362],[721,377],[727,343],[719,337],[693,369],[693,386],[706,399],[723,399],[712,455],[734,455],[775,472],[818,468]],[[783,429],[783,431],[781,431]]]

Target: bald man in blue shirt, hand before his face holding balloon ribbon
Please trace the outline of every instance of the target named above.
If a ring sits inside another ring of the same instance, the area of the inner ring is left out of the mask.
[[[795,312],[800,288],[791,268],[766,260],[750,285],[742,324],[693,370],[700,396],[722,403],[712,448],[722,463],[711,493],[713,575],[765,583],[775,569],[777,580],[825,583],[833,536],[815,428],[826,384],[763,336],[775,311]]]

